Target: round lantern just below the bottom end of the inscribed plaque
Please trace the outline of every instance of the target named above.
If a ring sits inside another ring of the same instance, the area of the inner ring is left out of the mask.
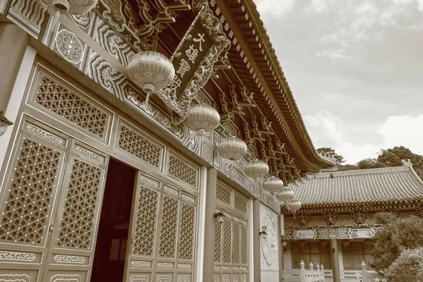
[[[207,104],[191,106],[185,124],[188,128],[203,134],[214,130],[220,123],[220,115],[214,107]]]

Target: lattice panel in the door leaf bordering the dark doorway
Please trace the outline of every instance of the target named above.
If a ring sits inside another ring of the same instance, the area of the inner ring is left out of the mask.
[[[73,162],[57,245],[89,249],[102,170],[83,161]]]

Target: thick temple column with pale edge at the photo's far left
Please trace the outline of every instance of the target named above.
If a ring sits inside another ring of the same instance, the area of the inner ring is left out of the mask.
[[[15,123],[36,51],[29,35],[13,23],[0,21],[0,119]],[[0,136],[0,167],[4,162],[13,126]]]

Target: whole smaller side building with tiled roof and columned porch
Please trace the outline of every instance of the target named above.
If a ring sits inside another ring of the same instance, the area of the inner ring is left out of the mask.
[[[348,281],[344,279],[360,273],[362,262],[369,277],[377,277],[369,252],[382,226],[374,214],[423,217],[423,181],[410,161],[398,167],[318,173],[303,182],[289,185],[302,209],[293,213],[282,208],[286,281],[301,260],[323,264],[325,281]]]

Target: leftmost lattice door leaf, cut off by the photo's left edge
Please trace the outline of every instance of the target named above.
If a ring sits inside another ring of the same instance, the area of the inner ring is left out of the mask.
[[[68,138],[25,121],[0,195],[0,281],[42,281]]]

